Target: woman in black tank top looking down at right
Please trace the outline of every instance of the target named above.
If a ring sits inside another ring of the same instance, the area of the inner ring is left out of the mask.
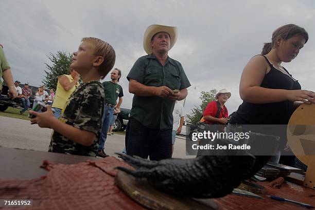
[[[299,105],[296,101],[315,103],[315,93],[301,90],[298,80],[281,66],[282,62],[290,62],[298,56],[307,40],[305,29],[294,24],[273,32],[272,42],[265,43],[262,55],[251,58],[243,69],[239,86],[243,103],[230,124],[287,125],[294,107]],[[278,151],[286,145],[286,131],[282,133]],[[264,156],[256,158],[262,160]]]

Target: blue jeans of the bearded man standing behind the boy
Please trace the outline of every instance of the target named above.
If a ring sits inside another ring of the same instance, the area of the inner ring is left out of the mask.
[[[102,121],[103,121],[102,130],[101,130],[101,134],[98,141],[98,150],[104,149],[104,144],[107,138],[107,132],[109,130],[110,123],[113,119],[113,114],[114,114],[114,108],[105,105],[104,113],[102,117]]]

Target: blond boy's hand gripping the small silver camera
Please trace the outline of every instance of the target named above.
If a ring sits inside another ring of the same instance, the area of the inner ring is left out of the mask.
[[[46,112],[29,111],[29,113],[36,116],[30,120],[31,124],[38,124],[41,128],[52,128],[53,122],[58,121],[53,111],[51,111],[51,106],[47,106]]]

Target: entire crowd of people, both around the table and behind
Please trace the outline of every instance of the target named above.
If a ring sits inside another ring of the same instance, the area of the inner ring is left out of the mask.
[[[177,101],[187,96],[190,86],[181,63],[168,56],[177,37],[177,27],[163,25],[150,25],[144,33],[147,55],[138,58],[127,75],[129,92],[134,94],[125,137],[128,155],[155,161],[172,156],[175,136],[181,132],[185,116]],[[308,33],[297,25],[276,29],[261,55],[252,57],[243,69],[239,87],[243,103],[233,117],[229,118],[224,105],[231,93],[223,89],[215,101],[208,103],[201,121],[209,125],[287,125],[301,103],[315,103],[315,93],[301,90],[298,80],[282,66],[282,62],[291,62],[298,56],[307,41]],[[49,96],[45,86],[35,94],[36,101],[47,100],[51,107],[43,113],[30,111],[36,116],[31,123],[54,129],[50,152],[106,158],[104,144],[124,96],[118,84],[120,69],[112,70],[110,81],[99,81],[113,68],[116,54],[107,42],[83,38],[73,55],[69,75],[58,79],[56,96],[53,96],[54,90]],[[29,107],[28,83],[22,90],[17,88],[19,81],[13,84],[2,48],[0,59],[0,72],[9,85],[9,92],[24,101],[22,114]],[[281,136],[281,146],[272,161],[279,161],[286,143],[286,136]]]

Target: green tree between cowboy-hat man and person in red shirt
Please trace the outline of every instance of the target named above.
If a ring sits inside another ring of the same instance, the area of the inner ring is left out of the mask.
[[[187,114],[187,122],[196,125],[202,117],[203,111],[207,104],[210,101],[216,100],[217,93],[218,91],[216,89],[212,89],[209,92],[201,91],[201,96],[199,97],[201,104],[199,106],[195,106],[193,109],[191,109],[191,113]]]

